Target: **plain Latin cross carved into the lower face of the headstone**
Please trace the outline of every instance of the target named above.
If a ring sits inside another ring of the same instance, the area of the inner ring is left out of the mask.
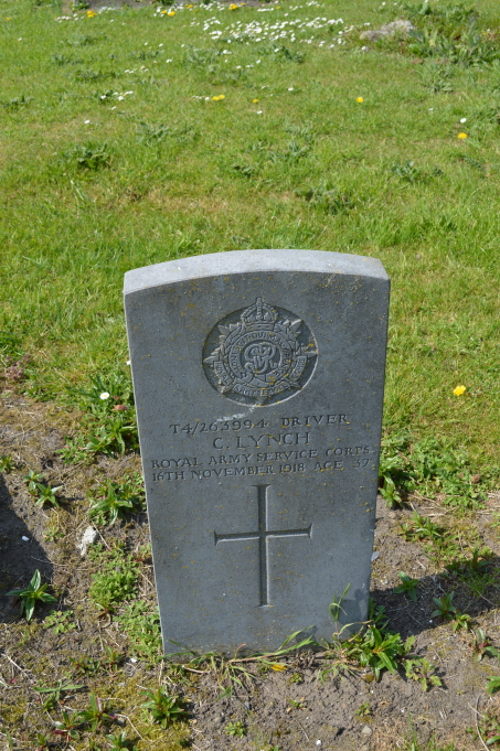
[[[259,569],[259,608],[269,605],[269,546],[268,540],[273,537],[309,537],[311,536],[312,524],[307,529],[268,529],[267,528],[267,491],[270,485],[254,485],[257,489],[257,511],[258,524],[257,532],[236,533],[230,535],[219,535],[216,532],[215,546],[219,543],[233,540],[257,539],[258,540],[258,569]]]

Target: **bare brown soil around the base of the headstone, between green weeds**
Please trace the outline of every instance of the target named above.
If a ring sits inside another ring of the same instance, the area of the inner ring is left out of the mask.
[[[82,560],[76,549],[88,526],[87,493],[105,478],[118,480],[124,473],[138,470],[140,463],[136,454],[129,454],[119,459],[99,458],[91,465],[65,465],[57,450],[64,446],[64,437],[75,430],[77,419],[60,406],[35,404],[14,391],[1,394],[0,454],[10,454],[17,468],[0,475],[0,679],[8,686],[0,704],[0,730],[4,732],[7,728],[25,743],[32,741],[35,731],[51,728],[47,714],[42,711],[40,701],[36,704],[33,686],[54,685],[71,675],[72,656],[99,658],[106,646],[121,646],[127,659],[111,678],[113,696],[117,696],[118,687],[127,682],[151,686],[168,676],[164,667],[130,661],[134,645],[127,643],[117,622],[99,622],[88,602],[92,566],[88,560]],[[52,485],[63,485],[61,509],[34,505],[22,481],[29,469],[43,471]],[[491,512],[497,502],[492,496],[490,506],[474,522],[480,539],[498,556],[498,534],[491,526]],[[443,523],[449,514],[437,504],[429,507],[428,502],[427,505],[422,502],[418,508],[424,514],[440,515]],[[373,565],[372,596],[385,605],[394,631],[404,637],[415,635],[415,651],[436,666],[443,686],[425,693],[417,683],[389,673],[383,674],[379,683],[368,680],[366,673],[343,679],[327,677],[321,682],[319,674],[330,663],[312,653],[290,657],[284,672],[255,673],[248,690],[236,687],[232,696],[222,698],[219,698],[222,689],[213,675],[196,675],[191,684],[177,686],[189,701],[192,748],[249,751],[276,745],[280,751],[315,748],[384,751],[402,748],[411,727],[422,743],[435,737],[438,745],[455,742],[460,751],[479,748],[477,736],[467,729],[475,726],[477,707],[480,712],[500,715],[500,698],[489,697],[485,690],[486,677],[499,673],[498,663],[489,657],[476,662],[467,635],[454,633],[449,624],[433,623],[432,598],[455,589],[457,607],[474,615],[499,645],[496,619],[500,593],[498,588],[492,588],[483,599],[475,599],[457,582],[450,587],[442,576],[443,570],[424,555],[422,546],[405,541],[398,534],[403,518],[409,513],[409,509],[387,511],[383,502],[377,505],[375,550],[380,555]],[[62,535],[57,539],[50,534],[54,525]],[[131,550],[148,541],[146,515],[100,532],[106,541],[124,540]],[[140,597],[153,602],[150,567],[142,566],[145,583]],[[496,566],[498,558],[491,564],[491,571]],[[74,610],[77,630],[57,635],[53,629],[44,629],[43,619],[50,607],[42,609],[30,625],[18,619],[6,592],[28,583],[35,568],[57,587],[62,608]],[[400,570],[419,579],[416,603],[393,593]],[[500,568],[498,570],[500,573]],[[99,688],[110,690],[108,678],[97,675],[82,683],[99,695]],[[169,680],[169,691],[174,690],[175,685]],[[87,698],[77,695],[70,704],[82,709]],[[138,704],[136,699],[134,707]],[[357,714],[366,704],[370,714]],[[140,710],[136,711],[137,716],[130,719],[140,725]],[[226,732],[227,725],[237,720],[248,729],[244,738]],[[107,748],[104,738],[102,741],[103,748]],[[83,747],[77,745],[79,748]],[[180,747],[146,740],[139,741],[138,748]]]

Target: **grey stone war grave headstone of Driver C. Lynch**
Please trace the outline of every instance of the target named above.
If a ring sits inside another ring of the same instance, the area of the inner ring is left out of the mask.
[[[166,653],[329,639],[348,584],[341,623],[365,620],[389,288],[380,261],[313,250],[126,275]]]

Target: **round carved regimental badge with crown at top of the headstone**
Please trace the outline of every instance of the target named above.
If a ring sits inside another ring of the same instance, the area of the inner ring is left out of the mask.
[[[217,339],[219,346],[213,348]],[[317,356],[316,340],[301,319],[257,298],[214,326],[203,350],[203,366],[220,394],[264,405],[304,388]]]

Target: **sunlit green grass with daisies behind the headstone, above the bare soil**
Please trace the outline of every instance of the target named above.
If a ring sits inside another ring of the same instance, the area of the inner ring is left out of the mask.
[[[500,7],[475,7],[498,52]],[[62,14],[0,3],[0,352],[32,355],[25,388],[60,398],[126,368],[128,269],[243,248],[369,255],[393,283],[386,428],[494,464],[500,64],[451,64],[453,92],[433,93],[442,74],[408,42],[362,51],[364,23],[404,15],[372,0]],[[224,32],[316,17],[344,24],[274,44]]]

